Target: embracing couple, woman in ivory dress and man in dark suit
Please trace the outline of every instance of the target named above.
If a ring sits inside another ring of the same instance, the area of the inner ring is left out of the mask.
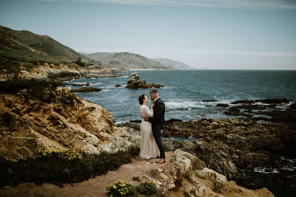
[[[141,131],[141,151],[140,158],[160,158],[157,163],[165,162],[165,151],[161,141],[160,133],[165,124],[165,104],[160,99],[156,89],[150,91],[151,105],[146,106],[148,97],[139,97],[140,112],[143,121],[140,125]]]

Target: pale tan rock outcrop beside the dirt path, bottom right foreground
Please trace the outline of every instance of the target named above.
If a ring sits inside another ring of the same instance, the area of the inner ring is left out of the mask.
[[[170,196],[274,196],[268,189],[256,191],[239,187],[234,181],[205,167],[200,159],[177,149],[168,164],[156,165],[147,162],[146,167],[155,166],[141,179],[153,181],[159,190]]]

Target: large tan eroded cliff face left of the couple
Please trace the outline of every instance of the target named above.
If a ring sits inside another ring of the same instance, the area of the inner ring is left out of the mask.
[[[51,103],[25,97],[24,91],[0,95],[2,157],[35,157],[44,149],[115,152],[140,139],[128,136],[131,129],[114,127],[112,114],[101,105],[79,97],[72,104],[61,102],[61,97],[75,97],[70,87],[57,87]]]

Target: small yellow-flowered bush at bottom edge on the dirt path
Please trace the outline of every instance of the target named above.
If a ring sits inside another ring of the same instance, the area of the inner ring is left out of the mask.
[[[110,197],[131,196],[136,191],[133,185],[120,179],[118,179],[118,181],[114,181],[112,185],[106,185],[105,188],[107,190],[107,195]]]

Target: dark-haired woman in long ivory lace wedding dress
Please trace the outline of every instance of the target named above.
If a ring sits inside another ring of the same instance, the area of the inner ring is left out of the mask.
[[[154,104],[151,104],[151,109],[146,106],[148,102],[148,98],[146,95],[141,95],[139,97],[140,103],[140,112],[142,117],[152,117],[153,116],[153,107]],[[151,123],[144,121],[141,122],[140,125],[141,131],[141,151],[140,151],[140,158],[142,159],[150,159],[160,156],[159,149],[155,142],[153,133],[152,133],[152,126]]]

